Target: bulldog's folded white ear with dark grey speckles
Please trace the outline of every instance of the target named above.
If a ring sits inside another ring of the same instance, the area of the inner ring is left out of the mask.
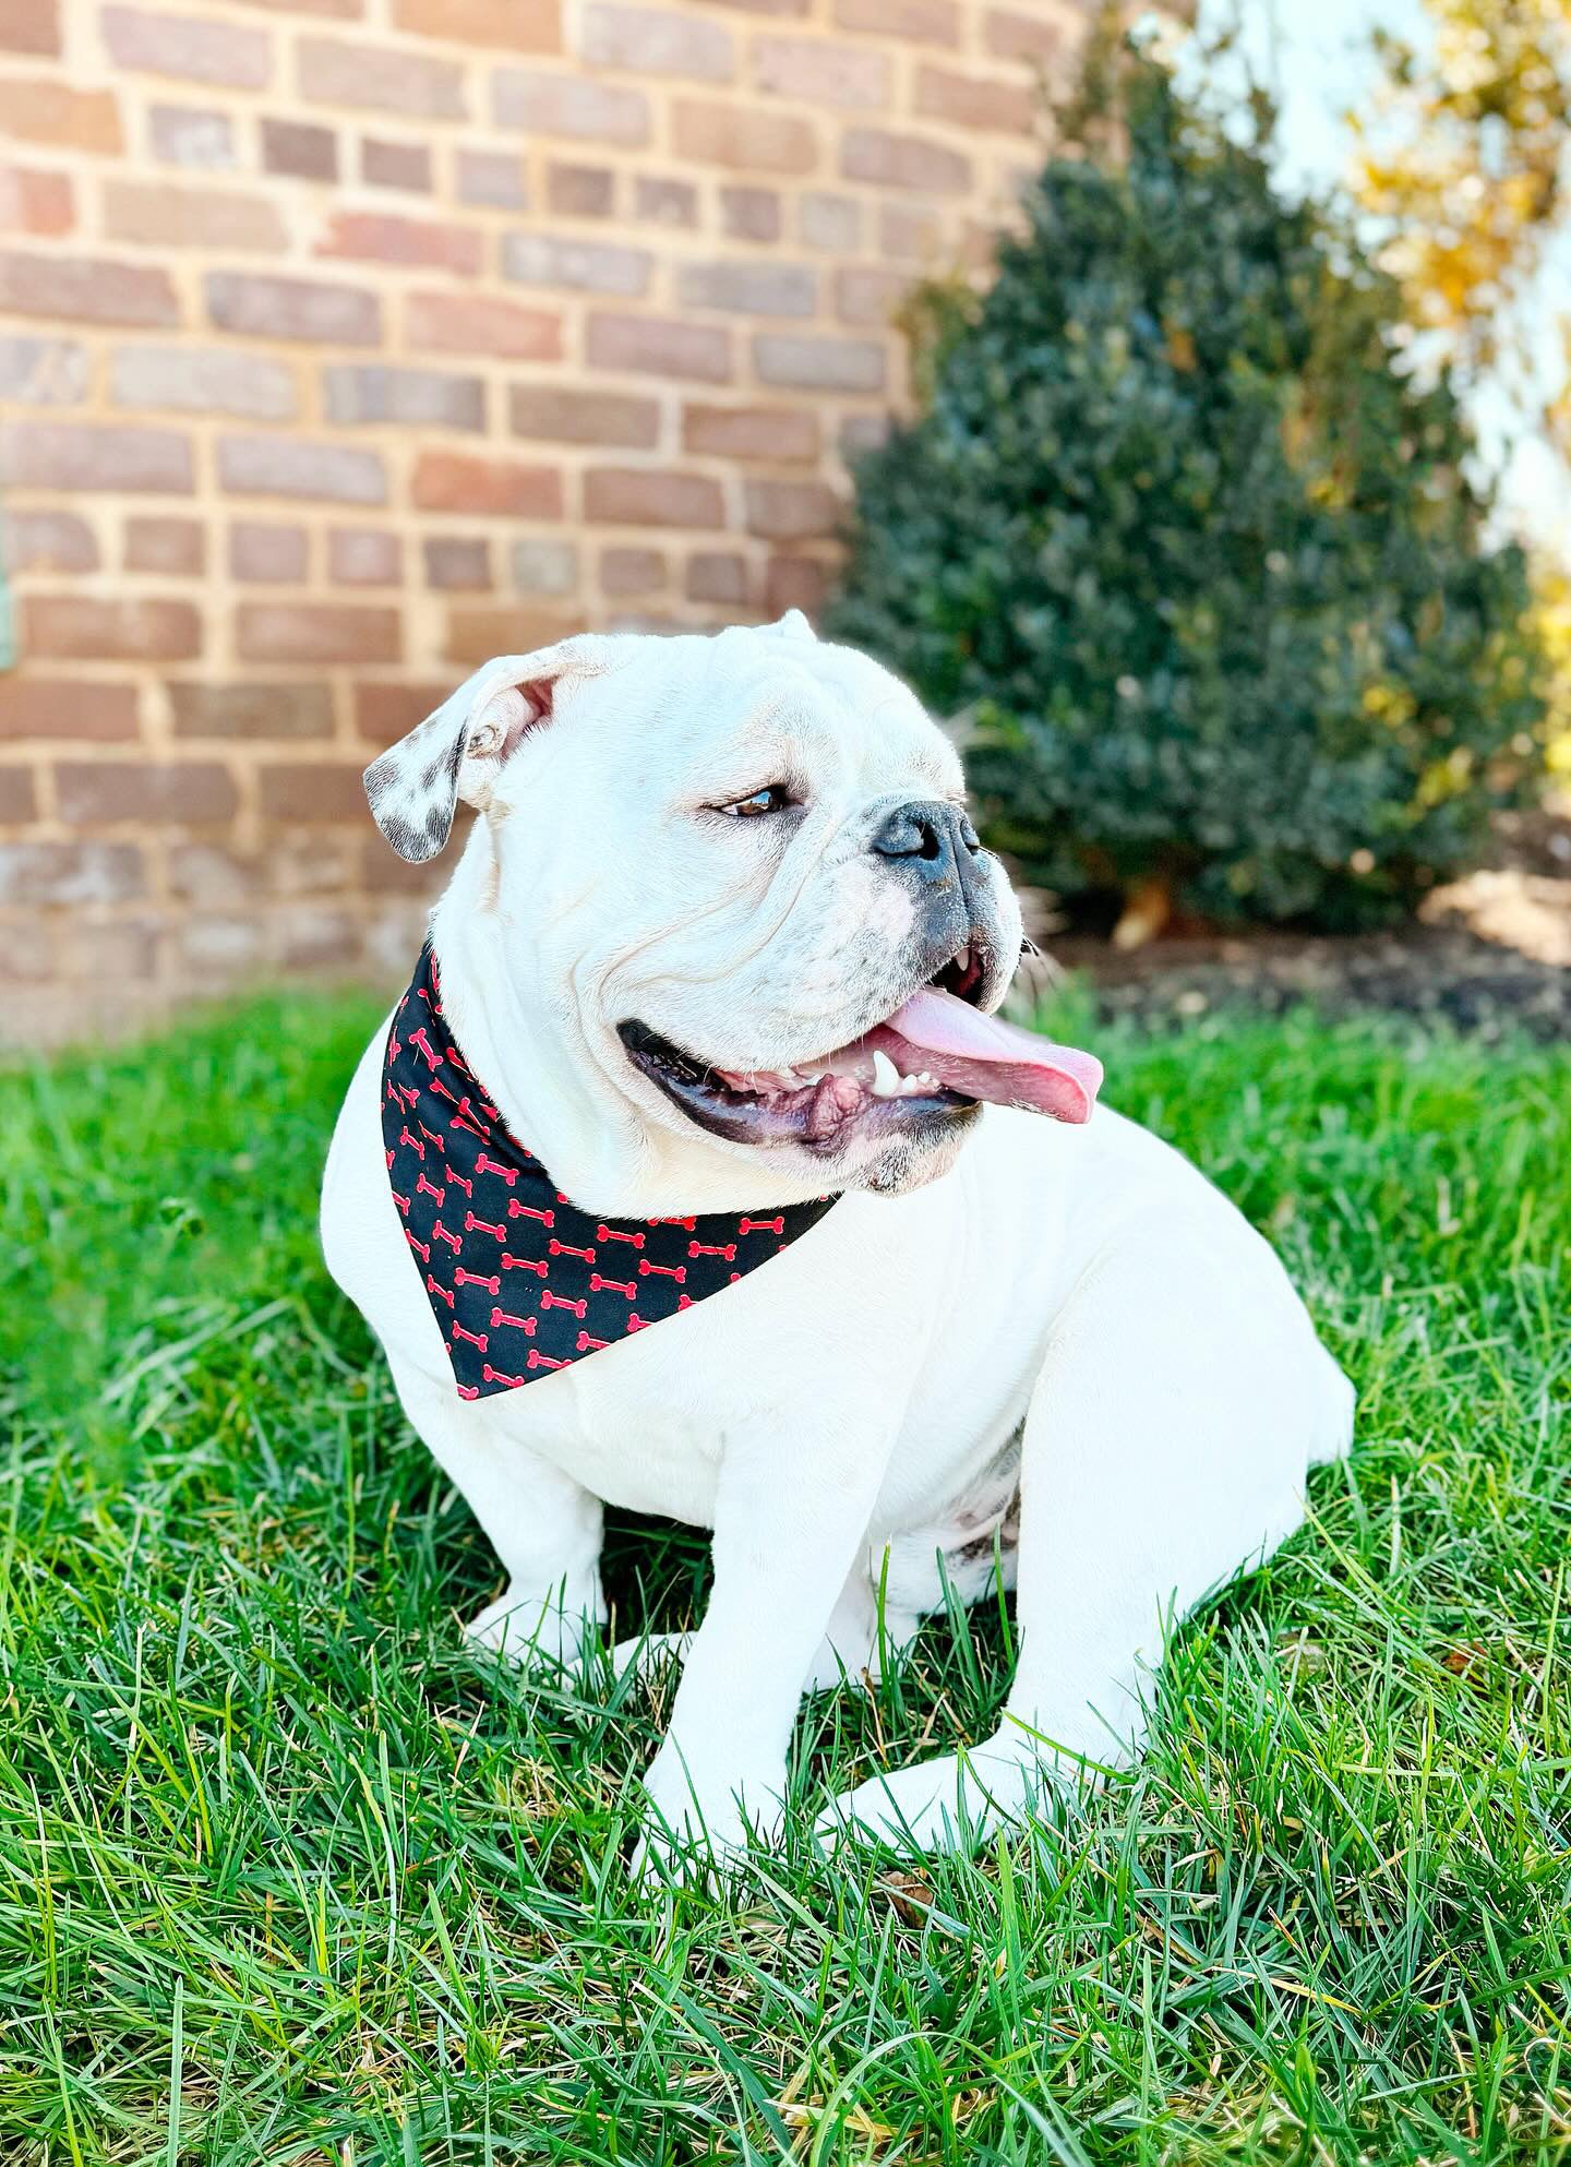
[[[453,832],[459,797],[485,806],[527,730],[550,719],[557,687],[607,667],[592,633],[533,654],[498,654],[366,769],[371,817],[407,858],[425,865]]]

